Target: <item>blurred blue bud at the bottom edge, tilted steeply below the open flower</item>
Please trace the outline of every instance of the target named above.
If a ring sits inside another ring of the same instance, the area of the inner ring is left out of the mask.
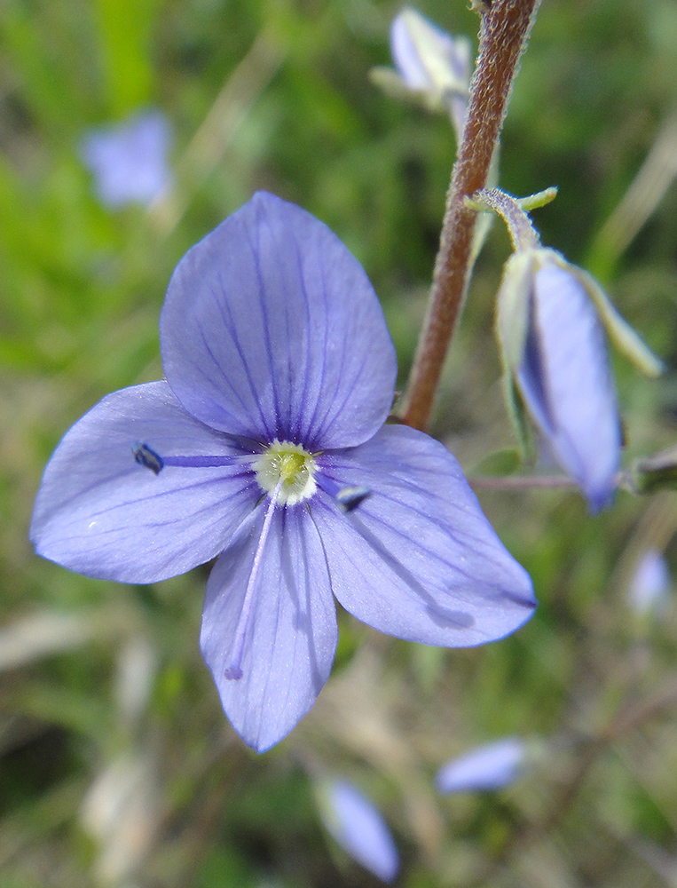
[[[336,842],[382,882],[392,882],[398,849],[374,804],[345,781],[328,783],[320,798],[322,819]]]

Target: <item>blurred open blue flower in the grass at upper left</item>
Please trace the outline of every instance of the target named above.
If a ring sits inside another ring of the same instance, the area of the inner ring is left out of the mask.
[[[169,123],[160,111],[91,131],[81,151],[99,200],[113,210],[128,203],[151,203],[171,183],[170,142]]]

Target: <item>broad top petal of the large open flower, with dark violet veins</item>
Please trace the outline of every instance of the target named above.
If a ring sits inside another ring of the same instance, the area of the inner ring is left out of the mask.
[[[255,194],[188,251],[160,329],[169,385],[213,428],[348,447],[390,409],[395,352],[362,266],[272,194]]]

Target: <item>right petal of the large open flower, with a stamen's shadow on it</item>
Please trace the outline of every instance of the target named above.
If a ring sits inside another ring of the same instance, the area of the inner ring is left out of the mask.
[[[336,483],[372,491],[347,515],[328,496],[311,503],[332,588],[350,614],[398,638],[450,647],[503,638],[529,619],[529,576],[442,444],[391,425],[320,460]]]

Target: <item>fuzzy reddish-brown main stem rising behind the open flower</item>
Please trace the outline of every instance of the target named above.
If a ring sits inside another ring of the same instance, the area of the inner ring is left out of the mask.
[[[468,286],[476,211],[464,199],[486,184],[508,98],[540,0],[482,4],[479,57],[470,86],[468,120],[446,196],[445,220],[428,317],[421,332],[405,400],[403,421],[424,430],[442,374],[453,328]]]

